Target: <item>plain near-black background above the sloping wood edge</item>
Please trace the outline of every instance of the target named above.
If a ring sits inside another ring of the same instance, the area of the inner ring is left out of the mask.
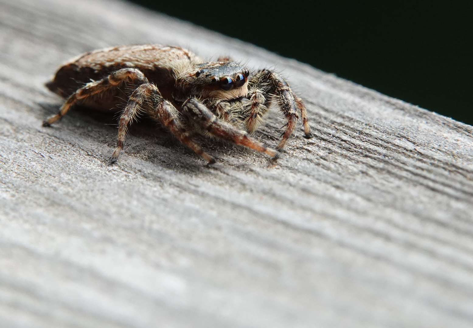
[[[473,125],[473,1],[132,2]]]

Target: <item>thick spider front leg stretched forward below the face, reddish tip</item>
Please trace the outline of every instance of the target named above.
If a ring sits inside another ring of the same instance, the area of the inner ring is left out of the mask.
[[[210,135],[231,141],[256,151],[264,152],[272,157],[278,155],[274,149],[266,147],[263,143],[254,140],[246,131],[239,130],[235,126],[217,118],[204,104],[195,98],[189,98],[182,105],[182,112],[202,130],[208,131]]]

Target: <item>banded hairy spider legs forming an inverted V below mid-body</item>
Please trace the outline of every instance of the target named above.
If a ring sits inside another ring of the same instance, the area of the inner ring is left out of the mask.
[[[164,100],[156,85],[149,82],[141,84],[131,93],[128,103],[123,110],[120,122],[118,123],[117,146],[110,157],[111,163],[116,162],[120,151],[123,149],[123,142],[128,132],[129,123],[142,110],[146,110],[152,118],[166,126],[181,143],[184,143],[201,155],[209,164],[215,163],[215,159],[212,156],[204,152],[198,144],[188,137],[184,128],[177,120],[177,109],[169,101]]]

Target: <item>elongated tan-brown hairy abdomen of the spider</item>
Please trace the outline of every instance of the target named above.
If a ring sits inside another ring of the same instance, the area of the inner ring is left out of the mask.
[[[100,80],[122,68],[138,68],[155,84],[163,98],[172,101],[171,93],[180,71],[202,60],[189,50],[162,45],[133,45],[96,50],[81,54],[63,64],[46,86],[63,98],[69,97],[91,81]],[[127,88],[116,88],[100,98],[88,99],[84,105],[100,111],[119,110]],[[125,101],[126,102],[126,101]]]

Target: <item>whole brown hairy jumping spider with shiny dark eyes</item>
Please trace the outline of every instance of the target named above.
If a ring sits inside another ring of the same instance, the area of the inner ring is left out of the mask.
[[[251,74],[226,57],[206,62],[180,47],[147,44],[86,52],[59,67],[46,86],[66,101],[43,126],[62,118],[75,104],[100,111],[123,109],[111,163],[123,150],[128,126],[143,112],[209,164],[215,163],[215,158],[193,140],[195,133],[277,159],[300,113],[305,136],[312,137],[304,103],[280,74],[269,69]],[[287,119],[277,150],[249,135],[262,123],[271,104]]]

